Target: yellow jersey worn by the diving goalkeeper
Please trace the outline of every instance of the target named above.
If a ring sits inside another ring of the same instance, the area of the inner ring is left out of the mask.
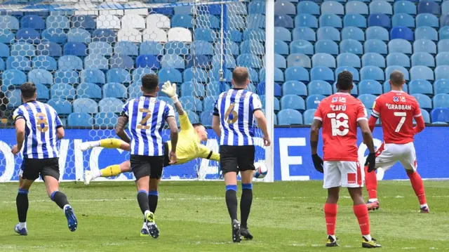
[[[220,161],[220,154],[211,151],[206,145],[202,145],[194,131],[194,126],[189,121],[187,113],[180,115],[181,131],[177,138],[176,164],[184,164],[196,158]],[[171,142],[167,141],[168,150],[171,150]]]

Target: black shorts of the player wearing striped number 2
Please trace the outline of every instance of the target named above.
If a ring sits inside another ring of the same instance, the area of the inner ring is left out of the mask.
[[[131,155],[130,163],[136,180],[145,176],[158,179],[162,176],[163,156]]]

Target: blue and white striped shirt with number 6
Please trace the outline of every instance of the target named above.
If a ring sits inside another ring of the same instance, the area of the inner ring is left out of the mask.
[[[223,92],[215,101],[213,114],[220,117],[220,145],[254,145],[254,117],[262,110],[259,96],[240,88]]]

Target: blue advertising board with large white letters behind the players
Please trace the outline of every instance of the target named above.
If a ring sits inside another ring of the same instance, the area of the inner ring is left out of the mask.
[[[109,131],[109,132],[106,132]],[[218,150],[216,135],[208,130],[209,138],[206,145]],[[13,129],[0,129],[0,182],[17,181],[18,171],[22,163],[21,157],[13,157],[11,147],[15,144]],[[86,140],[98,140],[102,135],[114,135],[110,130],[66,130],[66,138],[60,141],[60,169],[61,180],[81,180],[84,169],[104,168],[111,164],[125,161],[127,153],[121,150],[105,150],[100,147],[88,152],[78,150],[78,145]],[[168,135],[168,134],[167,134]],[[375,145],[380,145],[382,129],[376,127],[373,133]],[[361,162],[367,154],[366,145],[361,143],[361,133],[358,137],[358,154]],[[261,143],[262,141],[258,141]],[[274,129],[274,180],[321,180],[323,175],[315,171],[309,147],[309,128],[275,128]],[[449,178],[449,127],[428,126],[415,137],[418,170],[422,178]],[[319,144],[322,150],[322,142]],[[263,153],[263,152],[259,152]],[[321,153],[322,154],[322,153]],[[256,157],[264,159],[264,157]],[[195,179],[196,167],[200,164],[200,171],[206,173],[204,178],[217,178],[218,164],[215,161],[191,161],[187,164],[169,166],[164,169],[165,179]],[[100,167],[99,167],[100,166]],[[400,164],[396,164],[390,171],[377,171],[378,180],[407,179],[407,175]],[[114,180],[132,180],[133,176],[122,174]]]

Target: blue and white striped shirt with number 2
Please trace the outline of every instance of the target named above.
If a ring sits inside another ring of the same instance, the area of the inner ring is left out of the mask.
[[[131,154],[163,156],[162,130],[168,117],[174,117],[173,107],[163,100],[140,96],[123,105],[123,114],[129,119]]]

